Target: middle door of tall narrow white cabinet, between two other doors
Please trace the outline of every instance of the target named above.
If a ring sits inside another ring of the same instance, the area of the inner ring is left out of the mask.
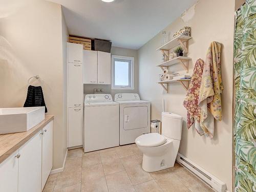
[[[68,64],[68,106],[82,106],[83,84],[82,84],[82,64]]]

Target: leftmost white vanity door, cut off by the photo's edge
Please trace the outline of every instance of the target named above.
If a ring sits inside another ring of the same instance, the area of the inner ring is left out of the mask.
[[[0,191],[18,191],[18,151],[0,164]]]

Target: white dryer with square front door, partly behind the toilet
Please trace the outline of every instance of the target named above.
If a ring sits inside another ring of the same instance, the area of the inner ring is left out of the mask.
[[[119,93],[115,101],[120,104],[120,145],[135,143],[135,139],[150,133],[151,103],[140,100],[136,93]]]

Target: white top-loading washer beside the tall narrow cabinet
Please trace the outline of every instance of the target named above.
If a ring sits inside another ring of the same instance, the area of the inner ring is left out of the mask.
[[[119,146],[119,103],[110,94],[84,98],[84,153]]]

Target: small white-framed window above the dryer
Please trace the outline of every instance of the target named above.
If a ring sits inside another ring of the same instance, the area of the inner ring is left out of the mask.
[[[112,55],[112,89],[134,90],[134,57]]]

